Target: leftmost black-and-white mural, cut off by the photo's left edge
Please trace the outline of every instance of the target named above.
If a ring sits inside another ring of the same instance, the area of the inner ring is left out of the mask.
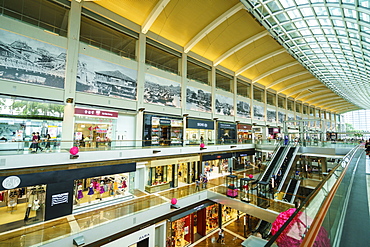
[[[66,49],[0,29],[0,78],[64,88]]]

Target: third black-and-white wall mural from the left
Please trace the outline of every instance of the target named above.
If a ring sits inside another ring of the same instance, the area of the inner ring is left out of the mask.
[[[144,102],[181,107],[181,84],[163,77],[145,74]]]

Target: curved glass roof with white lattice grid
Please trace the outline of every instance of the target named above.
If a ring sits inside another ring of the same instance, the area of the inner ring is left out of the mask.
[[[303,66],[370,109],[370,0],[241,0]]]

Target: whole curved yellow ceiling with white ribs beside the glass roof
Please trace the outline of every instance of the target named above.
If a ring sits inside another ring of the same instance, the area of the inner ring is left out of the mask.
[[[364,108],[355,100],[349,102],[348,98],[344,99],[348,90],[340,91],[339,76],[327,76],[323,84],[321,74],[325,72],[318,74],[316,70],[308,70],[310,66],[303,63],[302,59],[296,59],[297,56],[292,56],[287,46],[271,36],[275,33],[271,28],[266,30],[266,23],[263,22],[271,12],[264,6],[266,3],[260,2],[262,0],[95,1],[103,8],[140,25],[143,33],[153,32],[183,47],[184,52],[194,52],[212,61],[214,66],[227,68],[235,75],[242,75],[267,89],[334,113]],[[277,1],[263,2],[271,4]],[[257,17],[261,20],[257,21],[245,6],[254,13],[258,9],[261,14]],[[298,8],[297,5],[295,7]],[[281,9],[279,11],[284,12]],[[286,24],[284,22],[281,25]],[[316,34],[312,32],[313,35]],[[337,86],[331,87],[328,80]]]

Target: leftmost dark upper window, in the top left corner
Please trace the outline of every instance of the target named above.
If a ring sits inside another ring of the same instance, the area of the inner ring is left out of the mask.
[[[1,15],[21,20],[64,37],[67,37],[68,12],[69,6],[62,6],[54,1],[0,1]]]

